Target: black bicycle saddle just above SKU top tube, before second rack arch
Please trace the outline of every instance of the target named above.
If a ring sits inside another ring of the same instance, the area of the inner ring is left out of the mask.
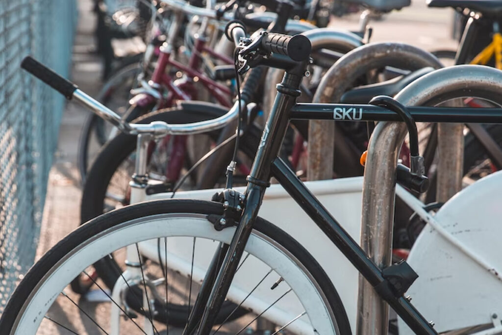
[[[424,67],[409,74],[402,75],[384,82],[364,85],[345,92],[340,98],[341,103],[368,103],[376,95],[394,96],[412,81],[432,72],[432,67]]]

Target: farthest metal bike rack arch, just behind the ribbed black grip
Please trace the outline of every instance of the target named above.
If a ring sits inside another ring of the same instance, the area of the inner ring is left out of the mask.
[[[308,30],[302,33],[302,35],[309,38],[312,50],[336,46],[337,51],[345,53],[364,44],[359,36],[340,29],[317,28]],[[284,70],[268,69],[263,99],[263,108],[266,114],[272,109],[272,104],[277,93],[276,84],[281,82],[283,76]],[[266,120],[266,118],[264,119]]]

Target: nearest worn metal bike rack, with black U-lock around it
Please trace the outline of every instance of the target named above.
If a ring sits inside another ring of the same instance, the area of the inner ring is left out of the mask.
[[[487,66],[449,67],[417,79],[395,98],[404,105],[435,105],[463,96],[493,100],[502,90],[502,83],[495,80],[499,76],[498,70]],[[395,169],[406,135],[404,123],[381,122],[368,147],[362,191],[361,243],[381,267],[391,263]],[[360,278],[357,334],[387,334],[388,312],[388,305]]]

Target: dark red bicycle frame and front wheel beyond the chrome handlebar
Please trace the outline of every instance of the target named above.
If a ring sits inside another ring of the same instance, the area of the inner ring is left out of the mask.
[[[186,61],[186,65],[176,60],[176,56],[182,51],[187,52],[185,47],[178,48],[177,40],[182,35],[182,24],[185,14],[175,12],[172,15],[171,25],[166,40],[165,35],[155,34],[147,46],[143,64],[129,65],[111,76],[103,86],[98,99],[113,110],[117,110],[124,119],[132,121],[152,110],[170,107],[181,100],[197,100],[200,96],[200,88],[203,88],[210,96],[221,105],[231,105],[232,90],[227,84],[217,82],[204,73],[204,66],[215,72],[228,73],[225,69],[215,68],[213,60],[222,64],[230,65],[233,74],[233,60],[211,46],[211,39],[206,36],[204,26],[199,33],[193,35],[193,48]],[[190,25],[187,26],[188,29]],[[183,50],[184,49],[184,50]],[[178,52],[176,52],[178,51]],[[150,65],[153,58],[158,56],[153,73]],[[216,71],[215,71],[216,70]],[[151,79],[146,80],[151,74]],[[225,77],[223,77],[224,79]],[[130,89],[131,87],[137,87]],[[90,115],[86,120],[79,143],[78,165],[82,183],[93,161],[93,156],[99,148],[111,137],[116,130],[105,129],[105,124],[95,115]],[[167,138],[164,144],[173,142],[175,151],[184,150],[186,139],[183,137]],[[176,155],[182,158],[183,155]],[[180,162],[181,163],[181,162]],[[174,170],[169,172],[167,178],[174,178],[179,174],[179,164],[173,163]],[[178,167],[177,167],[178,166]],[[174,179],[176,180],[176,179]]]

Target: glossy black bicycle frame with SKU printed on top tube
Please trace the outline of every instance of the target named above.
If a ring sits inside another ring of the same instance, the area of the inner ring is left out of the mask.
[[[205,287],[211,289],[210,294],[201,292],[197,297],[198,301],[196,303],[199,303],[199,305],[201,296],[209,297],[206,301],[203,301],[205,308],[202,315],[200,313],[191,315],[192,320],[193,318],[201,320],[198,334],[208,334],[214,324],[215,317],[226,297],[247,239],[253,229],[265,190],[270,185],[271,176],[279,181],[291,197],[316,222],[324,234],[373,287],[382,287],[382,285],[389,284],[382,274],[383,269],[369,259],[359,244],[349,236],[295,173],[278,157],[278,154],[291,119],[337,121],[401,121],[401,119],[393,111],[374,105],[295,104],[296,97],[300,95],[299,87],[305,72],[305,65],[305,63],[299,64],[296,68],[287,71],[281,84],[277,86],[278,93],[274,106],[263,132],[252,170],[247,177],[248,184],[240,222],[221,266],[219,269],[212,268],[213,271],[218,271],[216,279],[212,280],[212,278],[215,278],[215,273],[210,273],[211,271],[208,271],[204,279],[204,281],[206,279],[211,280],[212,285],[205,285]],[[502,108],[408,108],[414,119],[421,122],[502,123]],[[382,298],[389,303],[415,333],[437,334],[432,325],[402,295],[384,295]],[[192,332],[189,331],[188,333]]]

